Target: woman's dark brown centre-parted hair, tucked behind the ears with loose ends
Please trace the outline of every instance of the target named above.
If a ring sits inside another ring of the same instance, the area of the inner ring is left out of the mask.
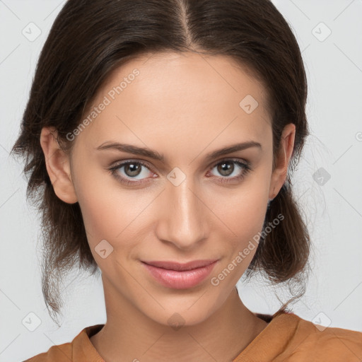
[[[310,238],[290,177],[309,134],[307,81],[296,37],[281,13],[269,0],[69,0],[42,48],[11,150],[26,156],[27,197],[42,213],[42,292],[49,313],[60,312],[59,282],[67,271],[78,262],[79,269],[94,274],[98,265],[78,202],[67,204],[54,193],[40,146],[42,128],[55,127],[59,146],[71,151],[66,134],[76,129],[112,70],[142,54],[189,51],[233,57],[262,81],[274,160],[284,126],[296,125],[287,181],[268,207],[264,225],[279,214],[284,220],[260,238],[246,276],[262,271],[272,284],[301,287],[294,298],[303,294]]]

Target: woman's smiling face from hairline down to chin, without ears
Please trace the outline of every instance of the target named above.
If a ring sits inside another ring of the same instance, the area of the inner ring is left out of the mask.
[[[230,58],[194,53],[132,60],[98,91],[88,122],[69,135],[71,180],[110,303],[194,325],[226,301],[285,180],[271,169],[265,97]],[[185,283],[180,271],[160,280],[144,264],[200,259],[217,262]]]

